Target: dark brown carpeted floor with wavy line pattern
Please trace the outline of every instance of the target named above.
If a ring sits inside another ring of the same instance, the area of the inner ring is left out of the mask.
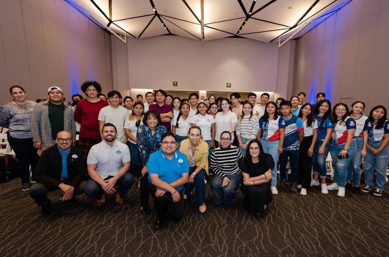
[[[213,206],[207,184],[205,213],[186,205],[183,220],[155,231],[155,212],[139,212],[137,188],[124,205],[108,197],[100,209],[86,195],[71,204],[52,192],[48,217],[20,189],[19,179],[0,184],[1,257],[389,256],[388,190],[382,197],[346,192],[340,198],[318,187],[306,196],[285,188],[265,214],[255,216],[243,208],[240,190],[235,206]]]

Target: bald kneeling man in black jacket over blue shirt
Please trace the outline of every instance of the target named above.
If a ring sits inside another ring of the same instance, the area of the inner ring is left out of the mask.
[[[30,196],[42,207],[42,215],[51,212],[48,191],[62,190],[58,199],[62,202],[75,200],[75,194],[84,193],[83,180],[86,173],[82,150],[71,146],[71,133],[60,131],[55,140],[56,145],[43,151],[35,167],[36,183],[32,185]]]

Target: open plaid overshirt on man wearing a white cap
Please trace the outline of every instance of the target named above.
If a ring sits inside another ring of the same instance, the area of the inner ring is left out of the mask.
[[[71,133],[73,142],[76,141],[76,125],[74,122],[74,111],[65,105],[64,129]],[[49,120],[49,100],[38,103],[31,114],[31,134],[33,141],[42,141],[42,145],[53,146],[52,127]]]

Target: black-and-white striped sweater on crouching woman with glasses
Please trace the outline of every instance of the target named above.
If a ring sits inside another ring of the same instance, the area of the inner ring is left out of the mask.
[[[238,160],[242,157],[243,155],[236,146],[217,147],[212,151],[211,168],[221,178],[226,177],[226,175],[238,174],[240,172]]]

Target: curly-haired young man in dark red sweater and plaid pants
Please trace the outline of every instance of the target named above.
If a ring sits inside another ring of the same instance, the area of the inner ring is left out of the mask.
[[[74,120],[81,125],[78,147],[82,149],[87,160],[90,147],[101,142],[99,112],[109,104],[98,97],[101,85],[97,81],[85,81],[81,85],[81,91],[88,97],[77,103]]]

